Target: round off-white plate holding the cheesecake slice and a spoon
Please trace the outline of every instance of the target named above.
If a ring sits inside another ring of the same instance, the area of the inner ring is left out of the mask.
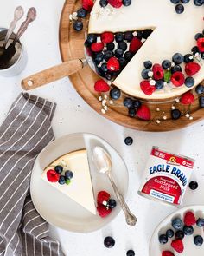
[[[92,148],[95,146],[105,148],[105,150],[111,155],[112,176],[118,185],[120,192],[124,196],[127,194],[127,167],[114,148],[96,135],[65,135],[55,141],[52,141],[41,151],[41,154],[39,154],[35,161],[35,166],[31,175],[30,193],[35,208],[41,214],[42,218],[47,220],[50,224],[72,232],[88,233],[99,230],[103,226],[107,225],[116,218],[120,212],[121,208],[118,203],[117,207],[113,209],[112,213],[106,218],[99,217],[99,214],[93,215],[85,208],[69,199],[68,196],[56,191],[54,187],[49,186],[48,183],[41,179],[43,169],[52,161],[63,154],[67,154],[81,148],[86,148],[95,197],[99,191],[105,190],[111,194],[112,198],[116,199],[112,186],[106,175],[97,173],[94,168],[94,164],[92,162]]]

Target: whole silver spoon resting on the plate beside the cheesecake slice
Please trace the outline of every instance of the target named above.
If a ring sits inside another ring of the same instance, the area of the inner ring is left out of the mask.
[[[118,187],[112,179],[112,161],[110,155],[107,154],[107,152],[103,148],[97,146],[92,149],[92,160],[97,167],[99,173],[106,174],[109,178],[109,181],[112,183],[114,192],[117,196],[120,206],[122,207],[122,210],[124,211],[127,224],[130,226],[135,226],[137,218],[133,213],[131,213],[129,207],[124,200],[123,195],[120,194],[120,192],[118,191]]]

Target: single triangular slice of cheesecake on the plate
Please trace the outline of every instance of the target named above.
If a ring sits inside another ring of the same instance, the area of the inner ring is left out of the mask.
[[[49,170],[54,170],[54,167],[59,165],[63,167],[61,175],[64,175],[67,170],[72,171],[73,173],[73,178],[68,185],[66,183],[61,185],[58,181],[48,181],[47,172]],[[53,186],[62,194],[65,194],[78,203],[81,207],[84,207],[90,213],[94,215],[96,214],[95,200],[92,190],[92,178],[86,149],[65,154],[53,161],[44,169],[41,178],[50,186]]]

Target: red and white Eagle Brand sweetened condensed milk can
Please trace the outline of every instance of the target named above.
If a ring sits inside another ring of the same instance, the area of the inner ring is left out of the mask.
[[[180,206],[193,167],[193,159],[153,147],[138,194]]]

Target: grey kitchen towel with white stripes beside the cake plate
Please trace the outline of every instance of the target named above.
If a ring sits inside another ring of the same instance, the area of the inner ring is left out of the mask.
[[[0,256],[61,256],[29,194],[36,156],[54,140],[55,103],[21,94],[0,127]]]

